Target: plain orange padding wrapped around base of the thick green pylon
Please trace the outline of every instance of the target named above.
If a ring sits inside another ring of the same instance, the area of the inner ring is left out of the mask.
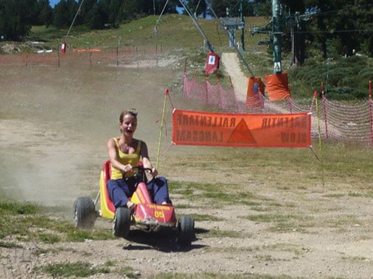
[[[266,88],[270,101],[278,101],[290,97],[287,73],[268,75],[264,79],[266,80]]]

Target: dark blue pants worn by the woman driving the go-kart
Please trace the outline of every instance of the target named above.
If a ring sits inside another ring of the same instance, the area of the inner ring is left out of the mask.
[[[125,179],[109,179],[107,181],[107,191],[115,208],[124,207],[135,191],[136,186],[135,177]],[[168,195],[167,180],[164,177],[157,177],[147,184],[150,196],[155,203],[162,203],[163,201],[171,203]]]

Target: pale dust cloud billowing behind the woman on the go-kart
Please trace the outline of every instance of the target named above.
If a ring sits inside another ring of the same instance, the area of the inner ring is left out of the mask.
[[[45,205],[97,194],[106,141],[119,135],[123,109],[138,110],[135,137],[155,163],[164,89],[179,108],[190,106],[181,69],[0,65],[0,84],[0,193]],[[167,101],[162,149],[171,112]]]

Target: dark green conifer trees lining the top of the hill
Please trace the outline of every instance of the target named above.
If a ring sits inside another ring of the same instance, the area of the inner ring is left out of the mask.
[[[165,3],[167,2],[167,5]],[[184,0],[197,16],[212,16],[205,0]],[[210,0],[219,17],[239,16],[240,0]],[[271,16],[271,0],[243,0],[244,16]],[[372,0],[279,0],[282,6],[283,51],[293,49],[296,62],[319,51],[322,57],[351,56],[363,52],[373,57]],[[0,0],[0,36],[19,41],[33,25],[66,29],[116,28],[122,22],[148,15],[177,13],[179,0],[60,0],[53,8],[49,0]],[[311,12],[313,11],[313,12]],[[311,13],[310,13],[311,12]],[[310,13],[309,17],[305,14]],[[296,16],[298,15],[298,16]],[[269,21],[269,18],[268,18]],[[270,30],[269,30],[270,32]]]

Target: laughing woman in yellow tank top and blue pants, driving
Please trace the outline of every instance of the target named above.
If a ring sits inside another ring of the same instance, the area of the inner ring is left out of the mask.
[[[120,137],[107,141],[107,153],[111,162],[111,179],[107,181],[107,190],[115,208],[127,206],[131,212],[135,204],[128,198],[135,191],[137,183],[132,166],[137,166],[140,158],[144,168],[151,169],[154,179],[147,183],[150,195],[155,203],[170,203],[167,180],[156,178],[158,172],[153,168],[148,155],[148,147],[144,141],[134,139],[137,127],[137,111],[124,110],[119,117]]]

